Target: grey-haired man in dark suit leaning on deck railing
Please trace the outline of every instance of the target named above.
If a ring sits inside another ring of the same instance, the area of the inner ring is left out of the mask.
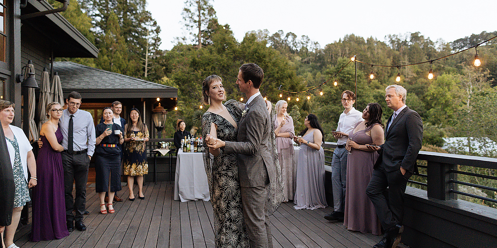
[[[385,128],[385,143],[374,165],[366,193],[375,206],[385,235],[373,248],[395,248],[404,231],[404,193],[407,181],[417,172],[416,158],[421,149],[423,122],[406,105],[407,91],[400,85],[386,88],[385,101],[394,110]],[[387,192],[388,187],[388,192]],[[384,195],[388,193],[388,201]]]

